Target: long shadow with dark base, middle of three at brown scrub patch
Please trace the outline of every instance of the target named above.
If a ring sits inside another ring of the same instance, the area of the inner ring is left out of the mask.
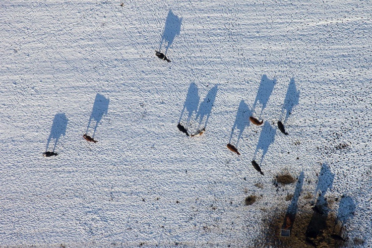
[[[328,208],[327,199],[325,198],[325,193],[328,189],[332,188],[333,179],[334,174],[331,172],[329,166],[323,163],[314,192],[314,199],[316,195],[318,195],[318,197],[315,203],[314,199],[312,200],[314,213],[312,214],[309,226],[305,233],[307,238],[315,240],[318,234],[320,234],[323,229],[327,228],[326,221],[330,210]]]

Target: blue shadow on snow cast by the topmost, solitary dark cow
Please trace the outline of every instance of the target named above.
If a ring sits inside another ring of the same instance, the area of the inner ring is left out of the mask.
[[[164,54],[167,54],[168,48],[172,45],[173,40],[175,39],[176,35],[180,35],[181,32],[181,23],[182,23],[182,17],[178,17],[175,15],[172,10],[169,10],[167,20],[165,22],[164,32],[162,35],[162,39],[160,41],[159,45],[159,51],[161,51],[161,48],[163,46],[163,43],[166,42],[165,45],[165,52]]]

